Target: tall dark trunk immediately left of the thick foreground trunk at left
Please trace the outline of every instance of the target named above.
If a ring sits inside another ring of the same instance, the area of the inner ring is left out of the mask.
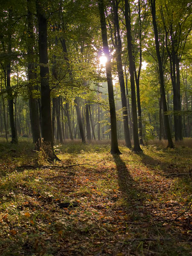
[[[29,90],[29,108],[30,108],[30,119],[31,119],[31,130],[33,143],[35,143],[35,148],[39,150],[39,143],[41,140],[40,132],[40,122],[39,122],[39,113],[38,113],[38,102],[32,95],[34,89],[33,81],[35,79],[34,75],[34,27],[33,27],[33,18],[32,18],[32,0],[27,0],[27,17],[28,17],[28,45],[27,45],[27,56],[28,56],[28,90]]]

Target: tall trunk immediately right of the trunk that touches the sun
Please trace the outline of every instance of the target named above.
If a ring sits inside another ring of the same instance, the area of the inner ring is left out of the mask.
[[[129,134],[129,125],[128,125],[128,111],[127,111],[127,102],[125,96],[125,81],[122,67],[122,58],[121,58],[121,50],[122,50],[122,42],[119,31],[119,17],[118,17],[118,3],[113,0],[113,12],[114,12],[114,28],[116,33],[115,36],[115,50],[116,50],[116,65],[117,65],[117,73],[119,78],[120,90],[121,90],[121,103],[122,103],[122,117],[123,117],[123,130],[125,137],[125,145],[128,148],[131,148],[131,139]]]

